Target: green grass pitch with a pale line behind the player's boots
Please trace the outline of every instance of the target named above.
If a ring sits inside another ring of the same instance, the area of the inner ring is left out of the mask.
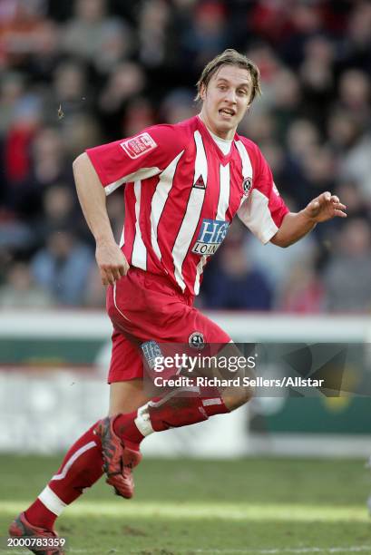
[[[58,463],[0,457],[0,536]],[[114,497],[102,480],[63,513],[58,530],[68,553],[92,555],[371,555],[365,505],[371,476],[364,466],[315,459],[144,460],[135,472],[134,500]]]

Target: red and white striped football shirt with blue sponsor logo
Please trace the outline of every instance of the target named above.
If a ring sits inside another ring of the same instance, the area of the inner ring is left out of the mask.
[[[197,295],[237,214],[263,242],[288,213],[258,146],[237,133],[224,155],[198,116],[87,150],[107,194],[126,183],[122,251],[131,266]]]

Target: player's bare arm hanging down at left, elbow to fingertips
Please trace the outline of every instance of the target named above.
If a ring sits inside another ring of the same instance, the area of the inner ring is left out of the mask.
[[[102,283],[112,285],[125,276],[129,264],[113,238],[103,184],[85,152],[73,161],[73,176],[83,216],[95,239],[95,258]]]

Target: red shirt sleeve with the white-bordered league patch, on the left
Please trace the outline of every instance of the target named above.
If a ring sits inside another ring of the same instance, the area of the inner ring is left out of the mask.
[[[86,151],[106,194],[122,183],[158,175],[178,156],[184,140],[173,125],[154,125],[144,131]]]

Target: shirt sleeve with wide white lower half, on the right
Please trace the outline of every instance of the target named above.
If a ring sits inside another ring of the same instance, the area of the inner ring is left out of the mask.
[[[249,198],[239,207],[238,216],[262,243],[268,243],[278,232],[289,210],[279,195],[268,162],[258,147],[254,154],[255,170],[251,192]]]

